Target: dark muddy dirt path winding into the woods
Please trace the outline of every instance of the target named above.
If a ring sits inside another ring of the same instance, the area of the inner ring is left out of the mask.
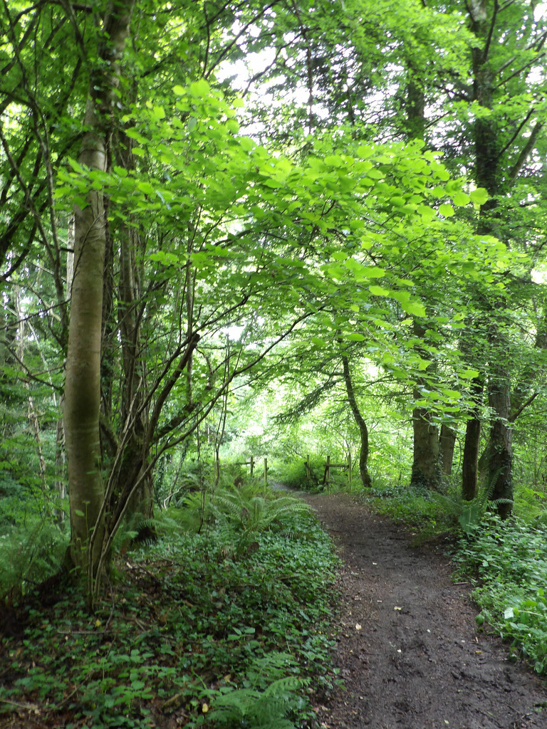
[[[470,586],[451,582],[442,550],[411,547],[348,494],[300,496],[344,560],[334,663],[345,688],[319,709],[325,729],[547,728],[547,685],[477,631]]]

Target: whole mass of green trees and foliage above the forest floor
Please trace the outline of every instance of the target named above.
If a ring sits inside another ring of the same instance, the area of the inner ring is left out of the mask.
[[[541,4],[3,0],[0,28],[6,595],[64,559],[96,607],[249,456],[309,487],[349,458],[467,531],[543,518]]]

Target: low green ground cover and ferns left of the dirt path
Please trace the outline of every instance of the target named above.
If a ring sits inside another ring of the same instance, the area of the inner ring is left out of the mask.
[[[335,681],[330,539],[295,499],[220,491],[201,527],[172,510],[123,550],[93,615],[58,576],[12,606],[0,726],[312,725]]]

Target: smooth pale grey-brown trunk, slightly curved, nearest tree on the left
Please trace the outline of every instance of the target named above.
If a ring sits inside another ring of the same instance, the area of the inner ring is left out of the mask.
[[[109,4],[104,42],[92,74],[85,109],[79,163],[106,171],[112,114],[120,82],[120,58],[135,0]],[[74,209],[74,278],[71,289],[66,360],[64,424],[69,464],[71,561],[88,572],[98,566],[104,539],[104,486],[101,479],[101,326],[106,219],[104,195],[90,189],[87,205]],[[89,549],[93,534],[93,549]]]

